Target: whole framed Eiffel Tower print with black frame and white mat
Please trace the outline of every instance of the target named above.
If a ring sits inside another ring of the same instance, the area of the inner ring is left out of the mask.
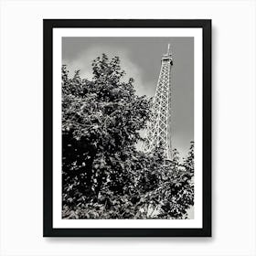
[[[44,236],[211,236],[211,20],[44,20]]]

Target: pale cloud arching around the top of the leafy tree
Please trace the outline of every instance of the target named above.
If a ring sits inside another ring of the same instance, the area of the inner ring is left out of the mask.
[[[133,78],[135,80],[134,89],[137,91],[137,94],[147,94],[148,85],[142,79],[143,69],[132,61],[129,57],[129,51],[125,48],[112,48],[110,46],[87,48],[80,53],[79,58],[73,60],[63,59],[62,63],[68,66],[69,75],[72,75],[75,70],[80,69],[81,78],[90,80],[92,78],[92,60],[101,57],[102,53],[107,54],[110,59],[118,56],[121,60],[121,68],[126,73],[124,80],[128,81],[129,78]]]

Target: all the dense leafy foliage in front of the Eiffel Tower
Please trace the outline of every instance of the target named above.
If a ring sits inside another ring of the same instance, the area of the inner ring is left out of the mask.
[[[194,144],[180,164],[136,148],[151,99],[124,82],[119,58],[92,62],[92,80],[62,67],[62,217],[184,219],[194,202]]]

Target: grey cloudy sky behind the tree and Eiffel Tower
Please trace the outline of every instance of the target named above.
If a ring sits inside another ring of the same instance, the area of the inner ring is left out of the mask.
[[[118,56],[127,80],[132,77],[139,95],[154,96],[161,57],[171,44],[172,144],[181,156],[187,155],[194,140],[194,40],[193,37],[62,37],[62,63],[70,74],[80,69],[91,79],[91,61],[106,53]]]

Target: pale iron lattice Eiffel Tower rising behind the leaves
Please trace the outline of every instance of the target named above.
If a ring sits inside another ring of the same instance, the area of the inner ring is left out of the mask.
[[[151,152],[162,144],[165,158],[172,159],[171,140],[171,68],[172,53],[168,44],[167,53],[162,56],[161,69],[156,86],[153,102],[153,112],[148,123],[146,139],[143,144],[144,152]]]

